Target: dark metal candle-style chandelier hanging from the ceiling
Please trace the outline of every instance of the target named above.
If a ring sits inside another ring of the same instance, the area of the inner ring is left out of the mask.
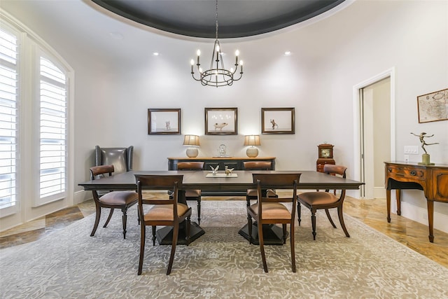
[[[216,0],[216,38],[213,48],[213,54],[211,55],[210,69],[203,70],[200,64],[201,51],[197,50],[197,71],[199,71],[199,78],[195,77],[195,60],[191,60],[191,76],[195,81],[200,81],[202,85],[209,86],[225,86],[232,85],[233,81],[238,81],[243,76],[243,61],[238,61],[239,50],[235,51],[235,69],[225,69],[223,61],[223,49],[218,41],[218,0]],[[237,69],[239,67],[239,78],[236,78]],[[234,77],[235,75],[235,77]]]

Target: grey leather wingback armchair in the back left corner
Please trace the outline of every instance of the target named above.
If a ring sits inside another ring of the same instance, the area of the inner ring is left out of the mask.
[[[113,165],[115,174],[132,170],[134,146],[128,148],[102,148],[95,146],[95,166]]]

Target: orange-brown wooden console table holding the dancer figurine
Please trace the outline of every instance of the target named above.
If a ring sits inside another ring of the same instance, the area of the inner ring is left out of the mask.
[[[395,189],[397,214],[401,215],[401,190],[423,190],[428,204],[429,242],[434,242],[434,202],[448,202],[448,165],[416,162],[384,162],[386,170],[387,222],[391,222],[391,190]]]

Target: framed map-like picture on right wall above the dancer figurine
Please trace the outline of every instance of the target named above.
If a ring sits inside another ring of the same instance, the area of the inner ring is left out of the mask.
[[[417,97],[419,123],[448,120],[448,89]]]

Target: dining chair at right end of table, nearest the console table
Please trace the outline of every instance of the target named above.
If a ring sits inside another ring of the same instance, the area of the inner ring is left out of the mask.
[[[323,172],[328,175],[340,176],[342,178],[346,178],[346,169],[347,167],[342,165],[332,165],[325,164],[323,166]],[[297,216],[300,225],[300,214],[302,211],[302,204],[304,207],[307,207],[311,211],[311,225],[313,229],[313,239],[316,239],[316,211],[318,209],[325,209],[325,214],[327,214],[327,218],[330,221],[333,228],[336,228],[335,223],[332,221],[330,216],[330,211],[328,209],[337,208],[337,216],[339,216],[339,223],[341,223],[342,230],[346,237],[350,237],[349,232],[345,228],[344,224],[344,214],[342,213],[342,205],[344,204],[345,198],[345,190],[340,190],[339,195],[336,193],[337,190],[333,190],[330,193],[330,190],[316,191],[316,192],[305,192],[300,193],[297,197]]]

